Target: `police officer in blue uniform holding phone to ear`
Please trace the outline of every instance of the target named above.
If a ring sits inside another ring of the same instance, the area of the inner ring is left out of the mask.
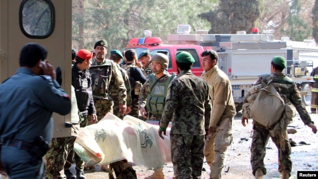
[[[71,110],[46,56],[44,46],[24,45],[20,68],[0,85],[0,157],[10,179],[44,179],[52,112],[66,115]]]

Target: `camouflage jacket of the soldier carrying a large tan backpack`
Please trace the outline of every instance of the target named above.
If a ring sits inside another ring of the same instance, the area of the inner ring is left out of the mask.
[[[269,80],[266,79],[266,82]],[[254,85],[259,85],[263,82],[263,79],[260,77]],[[305,105],[301,101],[301,95],[296,87],[295,82],[287,77],[283,73],[273,73],[273,86],[279,94],[283,94],[287,97],[288,100],[295,106],[299,116],[304,124],[310,123],[312,120],[309,113],[307,112]],[[245,95],[243,104],[247,103],[247,98],[250,96],[250,92]]]

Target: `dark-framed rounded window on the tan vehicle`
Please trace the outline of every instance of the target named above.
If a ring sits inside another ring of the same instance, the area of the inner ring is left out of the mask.
[[[55,9],[50,0],[23,0],[19,9],[22,33],[31,39],[49,37],[55,27]]]

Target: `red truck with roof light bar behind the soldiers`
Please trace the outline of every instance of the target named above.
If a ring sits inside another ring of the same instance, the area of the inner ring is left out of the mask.
[[[192,73],[196,76],[201,76],[203,72],[200,58],[204,48],[200,45],[163,44],[159,37],[145,37],[131,39],[129,45],[125,47],[125,50],[129,48],[135,49],[137,56],[147,49],[150,51],[151,56],[157,52],[165,53],[169,57],[168,71],[170,73],[177,73],[176,53],[179,51],[187,51],[195,60],[191,68]]]

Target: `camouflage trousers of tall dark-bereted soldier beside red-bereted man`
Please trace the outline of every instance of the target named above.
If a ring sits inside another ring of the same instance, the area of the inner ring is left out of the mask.
[[[113,106],[114,106],[113,101],[110,101],[107,99],[94,98],[94,105],[95,105],[98,121],[102,120],[108,112],[113,113]]]

